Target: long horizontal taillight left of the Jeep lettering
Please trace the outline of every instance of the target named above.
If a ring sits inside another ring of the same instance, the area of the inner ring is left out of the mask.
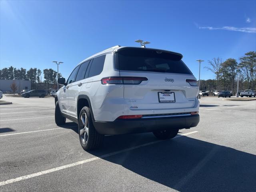
[[[147,81],[146,77],[105,77],[101,79],[101,84],[135,84],[138,85],[142,81]]]

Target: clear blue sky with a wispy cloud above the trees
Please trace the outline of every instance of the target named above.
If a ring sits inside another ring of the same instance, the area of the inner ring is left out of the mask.
[[[256,51],[256,1],[0,1],[0,68],[74,66],[106,48],[138,46],[180,52],[198,78],[214,78],[207,60]]]

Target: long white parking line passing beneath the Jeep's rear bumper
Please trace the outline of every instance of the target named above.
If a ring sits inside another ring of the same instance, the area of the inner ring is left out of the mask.
[[[193,131],[193,132],[185,133],[185,134],[182,134],[182,135],[177,135],[175,138],[190,135],[190,134],[193,134],[193,133],[196,133],[196,132],[198,132],[198,131]],[[127,148],[127,149],[123,149],[123,150],[120,150],[120,151],[112,152],[112,153],[109,153],[109,154],[105,154],[105,155],[102,155],[102,156],[99,156],[99,157],[93,157],[93,158],[90,158],[90,159],[78,161],[78,162],[75,162],[75,163],[71,163],[71,164],[67,164],[67,165],[64,165],[64,166],[48,169],[48,170],[45,170],[45,171],[30,174],[30,175],[25,175],[25,176],[17,177],[17,178],[14,178],[14,179],[2,181],[2,182],[0,182],[0,186],[10,184],[10,183],[14,183],[14,182],[18,182],[18,181],[22,181],[22,180],[26,180],[26,179],[33,178],[33,177],[37,177],[37,176],[40,176],[40,175],[48,174],[48,173],[55,172],[55,171],[58,171],[58,170],[74,167],[74,166],[77,166],[77,165],[85,164],[85,163],[88,163],[88,162],[91,162],[91,161],[106,158],[106,157],[109,157],[109,156],[113,156],[113,155],[116,155],[116,154],[120,154],[120,153],[123,153],[123,152],[138,149],[138,148],[141,148],[141,147],[144,147],[144,146],[156,144],[156,143],[163,142],[163,141],[164,140],[153,141],[153,142],[145,143],[145,144],[142,144],[142,145],[138,145],[138,146],[130,147],[130,148]]]

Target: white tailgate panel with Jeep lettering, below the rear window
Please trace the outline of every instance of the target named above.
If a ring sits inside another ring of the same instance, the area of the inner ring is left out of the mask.
[[[120,72],[120,76],[148,78],[138,85],[124,85],[124,99],[131,110],[191,108],[195,105],[198,87],[186,82],[186,79],[194,79],[194,76],[136,72]],[[163,98],[165,93],[167,97]]]

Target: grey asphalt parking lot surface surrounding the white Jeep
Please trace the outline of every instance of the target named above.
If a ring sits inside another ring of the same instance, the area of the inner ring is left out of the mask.
[[[54,122],[54,98],[0,106],[0,191],[255,191],[256,101],[200,99],[200,123],[159,141],[105,136],[86,152],[76,124]]]

